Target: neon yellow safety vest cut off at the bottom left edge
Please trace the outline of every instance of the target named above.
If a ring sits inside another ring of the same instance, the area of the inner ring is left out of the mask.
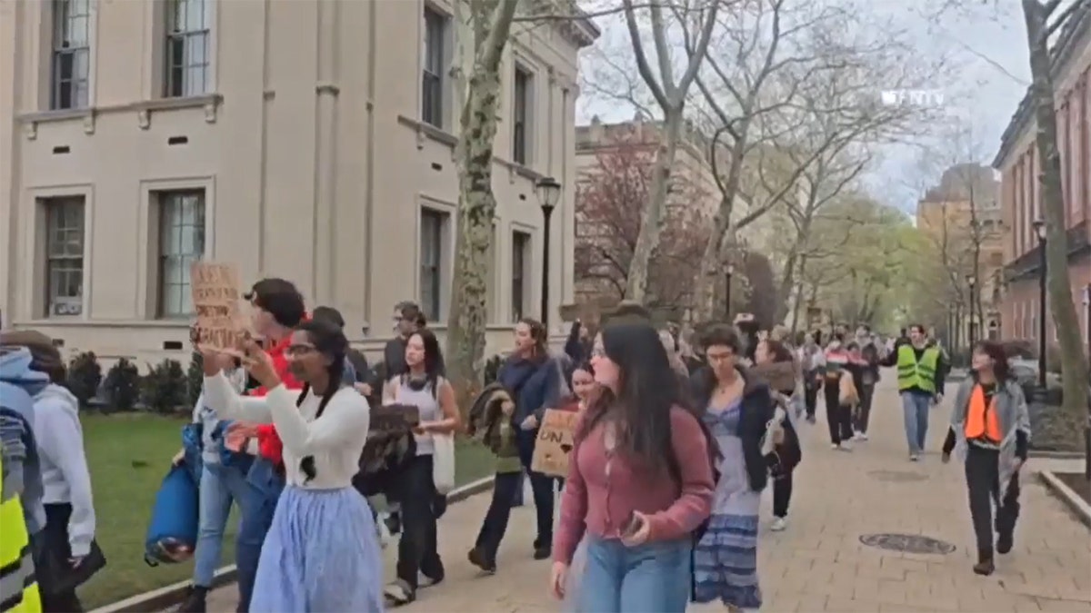
[[[0,458],[0,474],[2,462]],[[0,500],[0,612],[41,613],[31,537],[17,494]]]

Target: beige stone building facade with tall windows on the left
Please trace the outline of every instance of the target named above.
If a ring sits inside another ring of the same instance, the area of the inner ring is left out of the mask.
[[[188,356],[189,265],[207,259],[235,263],[247,286],[296,281],[364,348],[391,335],[406,299],[442,334],[466,12],[451,0],[0,2],[4,324],[107,358]],[[508,45],[496,342],[539,314],[546,176],[562,184],[550,300],[571,300],[577,56],[597,36],[586,20],[516,24]]]

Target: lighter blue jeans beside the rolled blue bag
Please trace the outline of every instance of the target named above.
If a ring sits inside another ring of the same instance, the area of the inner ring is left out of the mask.
[[[241,470],[233,466],[204,465],[199,497],[197,544],[193,552],[193,585],[212,587],[213,574],[219,566],[219,551],[231,502],[237,502],[242,508],[245,494],[247,476]]]

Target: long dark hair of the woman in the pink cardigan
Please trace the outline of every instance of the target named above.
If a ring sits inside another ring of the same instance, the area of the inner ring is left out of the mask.
[[[671,369],[659,333],[650,324],[624,322],[602,328],[602,349],[620,371],[620,389],[603,389],[591,418],[576,433],[583,440],[608,412],[624,422],[618,447],[652,471],[670,469],[671,409],[681,405],[679,376]]]

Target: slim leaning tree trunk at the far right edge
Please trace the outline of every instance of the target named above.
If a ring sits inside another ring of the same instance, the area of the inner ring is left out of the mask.
[[[1038,133],[1035,142],[1042,159],[1041,199],[1045,214],[1045,265],[1053,323],[1062,334],[1060,364],[1064,372],[1064,412],[1072,428],[1087,423],[1088,361],[1083,356],[1076,303],[1068,281],[1068,238],[1065,228],[1065,200],[1060,181],[1060,153],[1057,149],[1056,105],[1053,98],[1053,73],[1047,40],[1050,16],[1038,0],[1022,0],[1027,37],[1030,43],[1032,75],[1031,99]]]

